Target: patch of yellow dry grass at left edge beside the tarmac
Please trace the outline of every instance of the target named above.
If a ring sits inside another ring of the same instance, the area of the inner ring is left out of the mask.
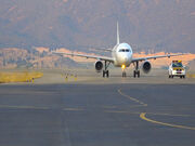
[[[42,72],[0,72],[0,83],[9,82],[34,82],[34,79],[41,78]]]

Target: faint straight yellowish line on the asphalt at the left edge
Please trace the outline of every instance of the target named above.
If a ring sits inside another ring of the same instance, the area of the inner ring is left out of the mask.
[[[15,109],[41,109],[48,110],[49,107],[36,107],[36,106],[9,106],[9,105],[0,105],[0,108],[15,108]]]

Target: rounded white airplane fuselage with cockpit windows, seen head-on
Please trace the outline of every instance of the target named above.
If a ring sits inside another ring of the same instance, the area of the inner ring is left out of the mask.
[[[121,67],[125,65],[126,67],[129,67],[132,61],[132,49],[128,43],[116,44],[112,52],[114,66]]]

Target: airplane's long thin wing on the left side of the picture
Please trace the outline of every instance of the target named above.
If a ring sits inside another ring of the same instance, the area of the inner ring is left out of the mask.
[[[114,63],[114,58],[108,57],[108,56],[98,56],[98,55],[86,55],[86,54],[76,54],[76,53],[61,53],[61,52],[52,52],[54,54],[58,55],[70,55],[70,56],[79,56],[79,57],[86,57],[86,58],[95,58],[95,59],[101,59],[101,61],[108,61]]]

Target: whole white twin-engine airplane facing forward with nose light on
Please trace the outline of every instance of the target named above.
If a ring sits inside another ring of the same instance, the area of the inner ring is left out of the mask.
[[[102,50],[102,49],[101,49]],[[182,54],[168,54],[168,55],[156,55],[156,56],[148,56],[148,57],[133,57],[133,52],[131,47],[128,43],[120,43],[119,41],[119,29],[117,23],[117,44],[113,49],[104,49],[104,51],[112,52],[112,57],[109,56],[98,56],[98,55],[84,55],[84,54],[76,54],[76,53],[61,53],[61,52],[53,52],[55,54],[65,54],[72,56],[80,56],[86,58],[94,58],[96,59],[94,66],[98,72],[103,70],[103,77],[109,77],[108,66],[113,64],[115,67],[121,67],[122,69],[122,77],[126,77],[126,67],[129,67],[131,64],[134,65],[133,77],[140,78],[140,66],[139,62],[143,62],[141,68],[145,74],[148,74],[152,69],[152,65],[148,59],[156,59],[160,57],[170,57],[170,56],[178,56]],[[104,62],[104,64],[103,64]],[[104,69],[103,69],[104,68]]]

